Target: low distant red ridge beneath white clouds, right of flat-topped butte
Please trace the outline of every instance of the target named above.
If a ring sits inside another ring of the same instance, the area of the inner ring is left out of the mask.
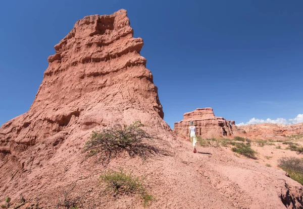
[[[239,126],[246,132],[248,138],[261,139],[282,139],[285,136],[297,135],[303,133],[303,123],[283,125],[273,123],[261,123]]]

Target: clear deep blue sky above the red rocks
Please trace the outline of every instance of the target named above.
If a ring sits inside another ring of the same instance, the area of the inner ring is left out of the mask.
[[[2,1],[0,124],[26,112],[78,19],[126,9],[165,120],[213,107],[236,123],[303,114],[303,1]]]

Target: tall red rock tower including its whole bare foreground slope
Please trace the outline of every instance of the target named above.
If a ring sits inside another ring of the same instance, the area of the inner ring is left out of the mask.
[[[79,208],[143,208],[138,196],[116,198],[100,184],[100,173],[122,167],[145,176],[156,197],[149,208],[302,208],[303,188],[284,171],[220,149],[190,152],[163,120],[142,45],[125,10],[77,21],[48,57],[28,112],[0,128],[0,204],[11,197],[17,206],[22,195],[21,209],[66,208],[59,204],[65,198]],[[166,154],[145,161],[122,155],[108,167],[85,158],[93,130],[135,120],[158,135],[154,143]]]

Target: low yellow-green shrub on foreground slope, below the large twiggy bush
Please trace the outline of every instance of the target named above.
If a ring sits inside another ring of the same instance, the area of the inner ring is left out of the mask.
[[[108,185],[107,189],[113,192],[114,196],[139,193],[143,199],[144,206],[155,198],[147,193],[138,177],[133,177],[122,169],[120,171],[107,171],[105,174],[100,175],[100,180]]]

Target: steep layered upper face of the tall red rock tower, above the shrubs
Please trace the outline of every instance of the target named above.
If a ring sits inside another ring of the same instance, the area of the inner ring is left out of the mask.
[[[48,57],[29,111],[0,129],[0,152],[23,151],[59,132],[64,140],[64,130],[75,124],[82,130],[135,119],[161,124],[157,117],[164,113],[142,46],[125,10],[79,20]]]

